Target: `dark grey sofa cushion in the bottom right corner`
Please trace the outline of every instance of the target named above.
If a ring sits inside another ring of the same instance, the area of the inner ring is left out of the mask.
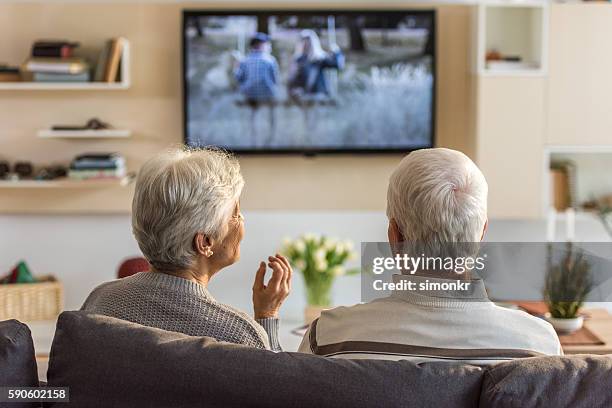
[[[537,357],[491,367],[481,407],[612,407],[612,356]]]

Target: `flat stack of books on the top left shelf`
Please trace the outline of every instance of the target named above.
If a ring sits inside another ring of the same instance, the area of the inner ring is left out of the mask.
[[[74,56],[78,45],[66,40],[36,41],[22,70],[30,73],[35,82],[88,82],[89,64]]]

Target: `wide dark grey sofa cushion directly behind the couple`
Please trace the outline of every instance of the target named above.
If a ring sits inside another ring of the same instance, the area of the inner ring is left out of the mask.
[[[87,407],[476,407],[482,369],[275,354],[64,312],[47,376]]]

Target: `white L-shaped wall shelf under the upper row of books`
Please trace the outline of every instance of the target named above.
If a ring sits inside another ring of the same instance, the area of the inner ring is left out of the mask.
[[[130,82],[130,43],[124,41],[118,82],[0,82],[0,91],[115,91],[128,89]]]

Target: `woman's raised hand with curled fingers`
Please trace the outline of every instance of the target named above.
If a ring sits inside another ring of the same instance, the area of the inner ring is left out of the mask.
[[[272,277],[264,283],[266,263],[261,262],[253,284],[253,309],[256,319],[278,317],[278,310],[291,291],[293,270],[287,258],[280,254],[268,257]]]

